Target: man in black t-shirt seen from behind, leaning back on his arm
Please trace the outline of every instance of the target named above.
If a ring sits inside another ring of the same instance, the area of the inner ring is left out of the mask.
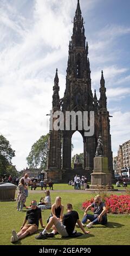
[[[76,222],[79,224],[79,227],[83,231],[84,234],[88,234],[89,231],[86,231],[80,220],[79,215],[76,211],[73,211],[72,204],[67,204],[67,214],[64,214],[62,222],[57,220],[56,217],[51,217],[50,221],[48,222],[46,228],[40,233],[40,235],[36,236],[36,239],[46,239],[47,237],[52,237],[54,234],[50,233],[48,234],[47,231],[55,225],[58,233],[61,236],[67,237],[67,236],[73,236],[75,233],[75,224]]]

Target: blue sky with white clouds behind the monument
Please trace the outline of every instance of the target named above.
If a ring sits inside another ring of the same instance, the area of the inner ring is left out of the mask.
[[[27,167],[32,144],[49,132],[54,77],[66,84],[68,45],[77,0],[0,0],[0,134],[9,140],[17,170]],[[107,89],[113,156],[130,139],[130,1],[80,0],[92,90]],[[74,154],[83,152],[75,132]]]

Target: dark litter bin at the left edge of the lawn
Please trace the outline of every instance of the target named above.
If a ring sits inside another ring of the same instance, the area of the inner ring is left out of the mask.
[[[0,183],[0,201],[14,201],[17,186],[11,183]]]

